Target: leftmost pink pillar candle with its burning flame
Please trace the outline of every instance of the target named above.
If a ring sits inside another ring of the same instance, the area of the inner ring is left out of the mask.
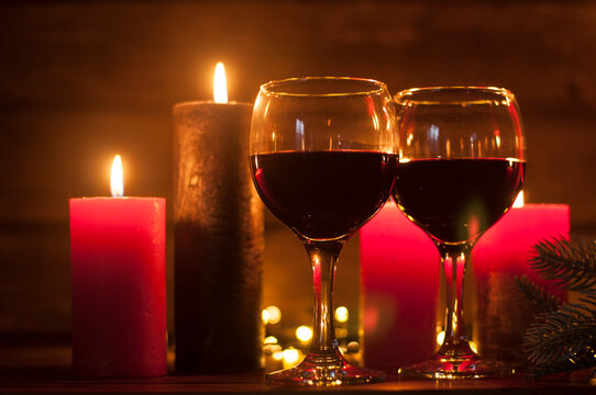
[[[164,375],[165,199],[70,199],[73,370],[81,377]]]

